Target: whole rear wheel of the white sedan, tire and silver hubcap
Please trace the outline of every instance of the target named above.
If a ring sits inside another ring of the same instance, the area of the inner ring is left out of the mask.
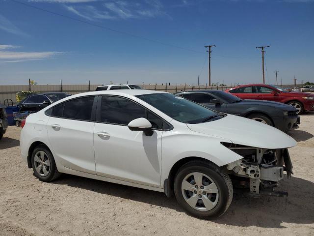
[[[60,176],[52,153],[44,145],[39,145],[34,149],[31,157],[31,163],[34,175],[41,181],[49,182]]]

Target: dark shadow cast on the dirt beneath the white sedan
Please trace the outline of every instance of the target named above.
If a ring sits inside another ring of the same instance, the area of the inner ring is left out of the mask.
[[[160,192],[70,175],[63,175],[53,183],[183,212],[174,197],[167,198]],[[282,223],[314,223],[313,182],[297,177],[287,179],[285,176],[278,190],[288,191],[289,196],[262,196],[255,199],[237,190],[229,210],[222,217],[212,221],[223,225],[263,228],[285,228]]]

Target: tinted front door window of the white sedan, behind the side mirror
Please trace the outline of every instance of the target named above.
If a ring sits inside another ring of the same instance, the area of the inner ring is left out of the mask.
[[[117,96],[102,97],[101,122],[128,125],[131,120],[137,118],[147,118],[152,128],[162,129],[163,127],[162,119],[129,99]]]

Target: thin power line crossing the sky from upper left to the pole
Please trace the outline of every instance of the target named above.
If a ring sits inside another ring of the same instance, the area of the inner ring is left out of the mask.
[[[13,1],[13,2],[15,2],[15,3],[18,3],[18,4],[25,5],[25,6],[27,6],[27,7],[31,7],[31,8],[40,10],[40,11],[48,12],[48,13],[53,14],[53,15],[61,16],[61,17],[64,17],[64,18],[67,18],[67,19],[70,19],[70,20],[73,20],[73,21],[77,21],[77,22],[80,22],[80,23],[84,23],[84,24],[87,24],[87,25],[91,25],[91,26],[94,26],[94,27],[98,27],[98,28],[110,30],[110,31],[113,31],[113,32],[125,34],[125,35],[128,35],[128,36],[134,37],[134,38],[146,40],[146,41],[149,41],[149,42],[161,44],[161,45],[168,46],[168,47],[173,47],[173,48],[178,48],[178,49],[182,49],[182,50],[186,50],[186,51],[190,51],[190,52],[194,52],[194,53],[202,53],[202,54],[203,54],[203,52],[196,51],[196,50],[193,50],[193,49],[184,48],[184,47],[180,47],[180,46],[176,46],[176,45],[172,45],[172,44],[168,44],[168,43],[159,42],[159,41],[154,40],[154,39],[145,38],[145,37],[138,36],[138,35],[135,35],[135,34],[132,34],[132,33],[120,31],[120,30],[117,30],[117,29],[108,28],[108,27],[105,27],[105,26],[100,26],[100,25],[97,25],[97,24],[94,24],[94,23],[91,23],[91,22],[88,22],[88,21],[79,20],[79,19],[74,18],[74,17],[71,17],[71,16],[67,16],[67,15],[63,15],[63,14],[57,13],[57,12],[53,12],[53,11],[50,11],[50,10],[46,10],[46,9],[44,9],[44,8],[37,7],[37,6],[33,6],[33,5],[27,4],[27,3],[25,3],[25,2],[18,1],[18,0],[11,0],[11,1]]]

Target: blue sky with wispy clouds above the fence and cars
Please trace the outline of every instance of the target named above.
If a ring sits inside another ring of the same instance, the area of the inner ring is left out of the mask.
[[[19,1],[91,24],[0,0],[1,85],[314,82],[314,0]]]

